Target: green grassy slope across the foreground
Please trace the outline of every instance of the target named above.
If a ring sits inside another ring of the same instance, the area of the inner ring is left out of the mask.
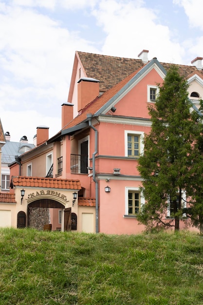
[[[203,305],[203,236],[0,229],[0,305]]]

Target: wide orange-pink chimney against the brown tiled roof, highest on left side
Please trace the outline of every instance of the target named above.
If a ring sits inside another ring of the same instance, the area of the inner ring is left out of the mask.
[[[83,77],[77,83],[77,111],[79,112],[99,96],[99,80]]]

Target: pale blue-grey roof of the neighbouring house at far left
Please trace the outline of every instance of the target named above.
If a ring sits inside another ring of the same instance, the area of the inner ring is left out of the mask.
[[[25,142],[11,142],[6,141],[6,144],[1,148],[1,163],[12,163],[15,161],[15,156],[20,155],[24,152],[35,147],[34,144],[25,143]]]

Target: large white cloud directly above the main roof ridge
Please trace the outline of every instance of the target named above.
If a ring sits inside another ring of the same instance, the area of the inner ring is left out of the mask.
[[[93,14],[107,33],[103,53],[136,58],[147,49],[149,59],[181,63],[184,49],[173,41],[169,28],[159,24],[155,12],[142,4],[142,1],[100,2]]]

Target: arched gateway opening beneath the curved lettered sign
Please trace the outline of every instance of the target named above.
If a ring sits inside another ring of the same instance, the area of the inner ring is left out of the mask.
[[[58,213],[58,210],[64,210],[65,206],[54,199],[42,198],[32,201],[27,206],[27,225],[35,229],[43,229],[47,224],[50,224],[50,214]],[[56,210],[57,209],[57,210]],[[65,209],[67,210],[67,209]],[[64,210],[64,216],[66,215]],[[71,208],[70,208],[71,213]],[[58,214],[57,214],[58,215]],[[58,217],[56,215],[56,217]],[[66,223],[64,217],[64,230],[71,230],[71,227]]]

